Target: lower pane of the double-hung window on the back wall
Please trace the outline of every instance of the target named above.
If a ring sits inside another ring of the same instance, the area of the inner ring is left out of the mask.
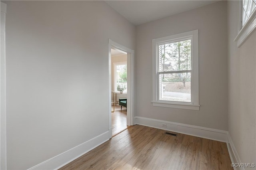
[[[191,73],[159,74],[159,100],[191,102]]]

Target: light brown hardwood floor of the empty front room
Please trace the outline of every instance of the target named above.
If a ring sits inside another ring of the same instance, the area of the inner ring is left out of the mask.
[[[60,170],[231,170],[226,143],[134,125]]]

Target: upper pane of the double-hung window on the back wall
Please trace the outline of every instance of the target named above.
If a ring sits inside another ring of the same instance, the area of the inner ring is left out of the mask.
[[[158,45],[158,70],[191,69],[191,40]]]

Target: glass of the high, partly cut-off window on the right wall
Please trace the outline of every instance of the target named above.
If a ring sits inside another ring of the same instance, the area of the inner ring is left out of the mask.
[[[248,18],[251,16],[252,12],[256,8],[256,1],[255,0],[243,0],[242,2],[242,11],[243,11],[243,16],[242,16],[242,25],[246,23]]]

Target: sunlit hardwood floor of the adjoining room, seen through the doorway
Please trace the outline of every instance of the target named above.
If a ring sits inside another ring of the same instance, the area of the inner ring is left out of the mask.
[[[112,106],[112,110],[113,110],[113,106]],[[127,110],[125,107],[122,107],[122,111],[121,111],[121,106],[119,105],[115,106],[115,111],[114,113],[112,113],[112,136],[128,128],[126,123],[126,115],[127,115]]]

